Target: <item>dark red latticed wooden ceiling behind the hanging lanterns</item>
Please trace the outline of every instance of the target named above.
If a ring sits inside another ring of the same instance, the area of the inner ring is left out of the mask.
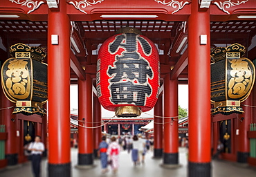
[[[184,53],[179,53],[175,57],[168,55],[176,42],[179,30],[183,30],[183,35],[187,35],[185,22],[179,21],[146,21],[146,20],[119,20],[119,21],[76,21],[79,26],[80,35],[87,55],[80,57],[81,63],[86,64],[88,58],[90,64],[96,64],[99,44],[115,34],[116,30],[122,27],[138,28],[143,35],[149,37],[156,46],[161,57],[161,64],[177,62]],[[183,29],[181,29],[183,28]],[[18,21],[0,20],[0,37],[2,39],[1,61],[8,57],[5,48],[18,42],[29,44],[30,46],[43,46],[47,48],[47,21]],[[256,35],[256,21],[212,21],[210,23],[211,45],[226,45],[240,43],[246,47],[250,46],[251,39]],[[77,77],[73,72],[71,77]],[[179,76],[179,80],[187,80],[187,70]],[[185,83],[185,82],[184,82]]]

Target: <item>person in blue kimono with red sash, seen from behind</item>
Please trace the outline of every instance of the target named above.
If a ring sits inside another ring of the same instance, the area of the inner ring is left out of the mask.
[[[106,142],[106,136],[102,136],[102,142],[100,142],[100,145],[99,145],[102,174],[105,174],[107,173],[107,171],[109,171],[107,169],[107,148],[108,147],[109,145]]]

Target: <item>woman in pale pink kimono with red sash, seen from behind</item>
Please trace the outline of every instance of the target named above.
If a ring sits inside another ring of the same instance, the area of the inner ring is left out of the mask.
[[[114,174],[116,174],[118,171],[120,150],[120,145],[118,145],[118,142],[116,142],[116,137],[113,136],[111,138],[111,143],[107,149],[107,155],[111,160],[111,167]]]

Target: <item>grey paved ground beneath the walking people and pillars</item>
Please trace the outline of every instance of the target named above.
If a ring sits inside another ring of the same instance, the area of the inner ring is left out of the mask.
[[[164,169],[160,167],[162,160],[152,159],[152,152],[147,153],[145,165],[134,167],[131,162],[131,154],[127,151],[120,153],[120,168],[117,174],[109,171],[107,174],[101,174],[100,160],[94,160],[95,167],[92,169],[77,169],[77,149],[71,149],[72,157],[72,175],[73,177],[186,177],[187,176],[187,156],[185,149],[180,149],[179,162],[182,167],[179,169]],[[47,160],[42,161],[42,177],[46,177]],[[17,169],[4,169],[0,171],[1,177],[32,177],[30,162]],[[227,162],[222,160],[212,161],[212,177],[255,177],[256,168],[241,167],[235,162]]]

